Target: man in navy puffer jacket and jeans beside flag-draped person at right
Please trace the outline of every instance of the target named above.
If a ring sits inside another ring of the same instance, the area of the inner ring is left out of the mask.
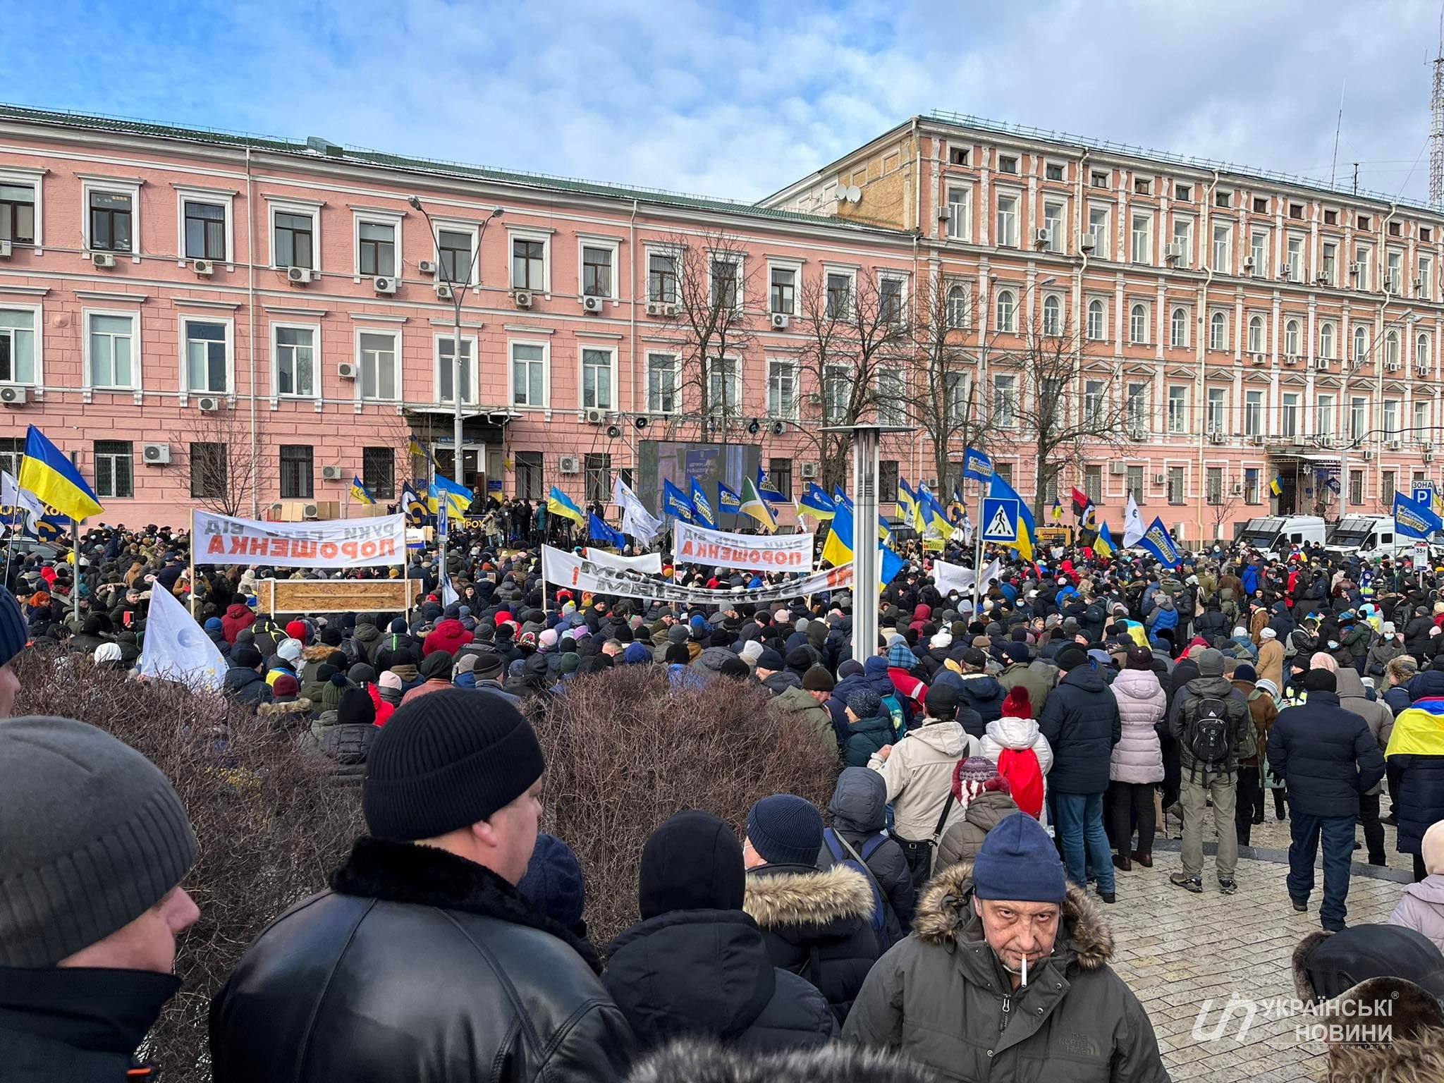
[[[1339,706],[1337,682],[1328,670],[1304,677],[1308,700],[1288,708],[1274,722],[1268,761],[1288,784],[1288,897],[1294,910],[1308,910],[1314,890],[1314,858],[1324,845],[1324,928],[1344,927],[1349,862],[1353,858],[1359,797],[1383,778],[1383,754],[1369,725]]]

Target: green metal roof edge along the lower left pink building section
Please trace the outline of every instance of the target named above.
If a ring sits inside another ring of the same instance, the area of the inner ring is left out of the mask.
[[[280,155],[305,155],[308,157],[328,157],[318,155],[308,147],[305,140],[286,140],[273,136],[258,136],[248,131],[227,131],[222,129],[191,129],[173,124],[156,124],[130,117],[111,117],[92,113],[72,113],[64,110],[38,110],[26,105],[0,104],[0,120],[14,120],[29,124],[46,124],[52,127],[90,129],[98,131],[114,131],[118,134],[150,136],[155,139],[173,139],[188,143],[208,143],[224,147],[251,147],[253,150],[267,150]],[[595,180],[585,180],[572,176],[552,176],[516,169],[492,169],[490,166],[468,165],[465,162],[448,162],[443,159],[413,157],[407,155],[391,155],[384,150],[345,146],[342,156],[331,157],[335,162],[352,165],[373,165],[387,169],[401,169],[413,173],[432,173],[436,176],[459,176],[475,180],[490,180],[494,183],[517,185],[523,188],[544,189],[553,192],[567,192],[575,195],[595,195],[608,199],[638,201],[650,205],[677,206],[689,211],[713,211],[718,214],[738,214],[749,218],[768,218],[774,221],[800,222],[806,225],[823,225],[840,228],[852,232],[871,232],[891,237],[908,237],[905,231],[888,230],[878,225],[852,222],[845,218],[829,215],[800,214],[797,211],[777,211],[741,199],[719,199],[712,196],[687,195],[684,192],[670,192],[661,188],[638,188],[630,185],[609,185]]]

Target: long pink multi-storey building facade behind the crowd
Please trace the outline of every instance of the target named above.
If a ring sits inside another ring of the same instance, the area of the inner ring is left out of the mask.
[[[1188,540],[1334,514],[1340,469],[1350,510],[1379,511],[1444,468],[1444,217],[1422,208],[947,114],[748,205],[19,108],[0,108],[0,465],[38,425],[131,526],[222,488],[248,516],[360,514],[352,477],[384,501],[425,472],[413,439],[455,475],[453,279],[462,479],[605,503],[644,440],[697,439],[710,409],[680,374],[679,245],[735,266],[744,316],[708,438],[755,445],[791,495],[816,471],[799,400],[825,391],[788,368],[797,299],[848,276],[904,306],[956,290],[952,334],[1004,422],[1021,336],[1076,328],[1071,409],[1118,404],[1125,432],[1060,482],[1115,524],[1128,492]],[[1004,423],[991,451],[1031,495],[1028,433]],[[921,433],[884,459],[950,485]]]

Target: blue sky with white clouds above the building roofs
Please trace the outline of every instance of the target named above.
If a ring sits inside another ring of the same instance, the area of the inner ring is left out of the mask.
[[[4,0],[0,100],[758,198],[931,108],[1422,199],[1435,4]],[[1347,79],[1347,85],[1341,84]]]

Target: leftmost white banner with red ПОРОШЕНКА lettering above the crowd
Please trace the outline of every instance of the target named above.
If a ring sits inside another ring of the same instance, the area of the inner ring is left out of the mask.
[[[191,513],[191,553],[198,565],[271,567],[375,567],[406,563],[406,516],[261,523],[209,511]]]

